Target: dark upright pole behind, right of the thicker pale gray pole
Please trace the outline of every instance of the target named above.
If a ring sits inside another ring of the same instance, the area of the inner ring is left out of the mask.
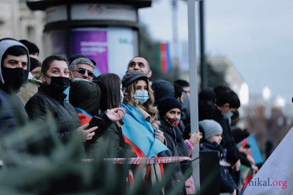
[[[204,0],[200,1],[200,88],[208,87],[207,64],[205,61],[205,23],[204,23]]]

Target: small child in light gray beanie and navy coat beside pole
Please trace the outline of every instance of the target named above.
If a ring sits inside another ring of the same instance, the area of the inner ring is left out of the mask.
[[[199,124],[205,131],[205,141],[202,144],[202,150],[218,150],[220,152],[220,160],[226,161],[227,149],[220,146],[223,132],[222,126],[211,119],[202,120]],[[233,193],[233,195],[238,194],[237,185],[225,166],[220,166],[220,188],[221,193],[229,192]]]

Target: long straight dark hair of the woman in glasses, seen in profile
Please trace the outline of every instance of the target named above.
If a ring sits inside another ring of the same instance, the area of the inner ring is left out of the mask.
[[[98,76],[95,80],[102,81],[108,88],[108,109],[113,109],[121,107],[121,94],[120,85],[121,80],[117,74],[114,73],[104,73]],[[118,122],[119,126],[122,126],[124,122],[122,119]]]

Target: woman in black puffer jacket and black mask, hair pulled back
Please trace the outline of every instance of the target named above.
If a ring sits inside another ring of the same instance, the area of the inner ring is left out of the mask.
[[[88,124],[80,126],[74,107],[64,102],[66,94],[63,91],[69,86],[69,69],[66,59],[60,56],[47,57],[42,64],[41,78],[43,84],[38,93],[25,105],[29,120],[38,124],[36,133],[41,136],[38,141],[30,144],[28,150],[31,153],[48,155],[56,145],[56,138],[64,144],[68,143],[74,135],[81,136],[84,141],[90,140],[97,127],[85,130]],[[50,119],[51,117],[55,120]],[[54,132],[52,132],[54,122],[56,128],[53,128]],[[83,158],[84,148],[81,146],[80,150]]]

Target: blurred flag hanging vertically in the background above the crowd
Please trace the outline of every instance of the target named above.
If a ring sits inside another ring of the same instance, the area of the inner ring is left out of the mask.
[[[157,70],[163,73],[170,72],[172,70],[169,50],[170,50],[169,43],[159,42],[156,44]]]

